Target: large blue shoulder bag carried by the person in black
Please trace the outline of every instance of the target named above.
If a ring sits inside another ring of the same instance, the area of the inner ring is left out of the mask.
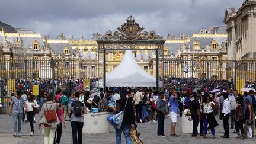
[[[128,98],[126,100],[126,104],[127,104]],[[120,129],[121,124],[123,122],[123,115],[124,115],[124,110],[126,108],[126,104],[124,106],[124,109],[122,111],[120,111],[117,114],[113,114],[107,117],[107,121],[108,123],[111,124],[111,126],[113,126],[115,129]]]

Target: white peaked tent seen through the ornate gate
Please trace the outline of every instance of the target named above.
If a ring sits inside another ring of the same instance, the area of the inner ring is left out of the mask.
[[[100,86],[103,86],[103,79],[101,79],[99,83]],[[106,86],[155,87],[156,79],[137,64],[133,57],[132,50],[126,50],[117,68],[107,75]],[[159,81],[159,86],[162,86],[161,81]]]

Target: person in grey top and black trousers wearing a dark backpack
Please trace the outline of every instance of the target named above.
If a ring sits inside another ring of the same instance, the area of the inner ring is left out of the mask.
[[[75,101],[71,103],[71,107],[68,110],[68,113],[71,114],[72,139],[74,144],[82,143],[83,114],[87,114],[87,108],[84,103],[79,101],[79,97],[79,92],[75,92]]]

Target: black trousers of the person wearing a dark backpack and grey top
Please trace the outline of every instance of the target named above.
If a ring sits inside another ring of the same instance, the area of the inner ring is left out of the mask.
[[[72,121],[71,128],[72,128],[72,139],[73,144],[82,144],[82,127],[84,123]]]

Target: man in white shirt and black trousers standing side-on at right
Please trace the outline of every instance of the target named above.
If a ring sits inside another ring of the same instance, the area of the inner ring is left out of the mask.
[[[225,93],[223,94],[224,103],[223,103],[223,109],[222,109],[222,114],[223,114],[223,127],[224,127],[224,136],[220,136],[222,138],[229,138],[229,113],[230,113],[230,102],[228,99],[228,94]]]

